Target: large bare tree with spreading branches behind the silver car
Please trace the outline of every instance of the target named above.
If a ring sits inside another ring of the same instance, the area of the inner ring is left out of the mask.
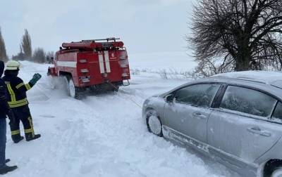
[[[200,0],[194,8],[187,41],[197,72],[282,69],[282,0]]]

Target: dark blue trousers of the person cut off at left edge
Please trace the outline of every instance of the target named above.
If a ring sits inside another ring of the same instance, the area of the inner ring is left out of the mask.
[[[0,119],[0,169],[5,165],[6,119]]]

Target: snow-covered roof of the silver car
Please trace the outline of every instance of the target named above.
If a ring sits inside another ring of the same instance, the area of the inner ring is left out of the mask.
[[[222,74],[216,74],[209,78],[255,81],[282,89],[282,72],[267,72],[267,71],[227,72]]]

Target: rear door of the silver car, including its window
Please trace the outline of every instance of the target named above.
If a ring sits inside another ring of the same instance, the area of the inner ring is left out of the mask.
[[[228,155],[231,164],[252,164],[281,137],[281,125],[269,122],[276,103],[264,92],[228,86],[209,117],[208,144]]]

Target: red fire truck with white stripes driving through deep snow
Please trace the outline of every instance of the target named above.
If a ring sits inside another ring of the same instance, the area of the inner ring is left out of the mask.
[[[117,38],[82,40],[63,43],[56,52],[51,76],[64,77],[68,93],[80,98],[85,90],[118,91],[129,85],[128,54]]]

